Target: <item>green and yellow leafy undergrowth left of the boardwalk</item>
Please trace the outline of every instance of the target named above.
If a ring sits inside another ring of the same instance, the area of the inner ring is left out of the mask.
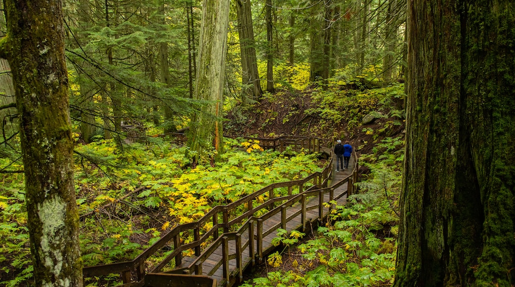
[[[131,260],[162,232],[199,219],[215,205],[321,170],[315,155],[264,151],[255,140],[225,139],[225,149],[214,166],[191,168],[187,149],[161,138],[123,150],[113,140],[77,145],[75,176],[84,265]],[[24,182],[18,173],[3,174],[1,180],[1,277],[2,284],[14,286],[30,280],[32,268]],[[129,194],[140,186],[140,192]],[[279,192],[285,195],[287,189]],[[292,236],[287,240],[299,235]],[[191,242],[193,234],[184,234],[182,240]]]

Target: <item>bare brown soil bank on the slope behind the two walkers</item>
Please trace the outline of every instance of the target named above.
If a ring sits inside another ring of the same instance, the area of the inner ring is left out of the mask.
[[[329,129],[322,128],[327,127],[327,122],[325,125],[322,124],[322,117],[306,114],[306,110],[317,104],[312,101],[311,92],[308,89],[295,94],[282,91],[273,95],[273,98],[264,98],[261,102],[247,107],[237,107],[226,115],[224,133],[260,137],[317,136],[325,140],[323,145],[327,147],[333,146],[337,139],[346,138],[358,154],[370,153],[375,142],[403,133],[404,124],[377,132],[386,122],[396,118],[377,119],[354,129],[348,129],[345,121],[330,123]],[[366,134],[363,132],[365,128],[371,128],[376,132]]]

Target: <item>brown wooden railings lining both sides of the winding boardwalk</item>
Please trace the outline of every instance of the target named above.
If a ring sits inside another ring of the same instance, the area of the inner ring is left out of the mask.
[[[304,148],[309,152],[320,152],[320,139],[318,138],[252,138],[260,140],[260,146],[264,148],[273,148],[279,150],[285,150],[287,147],[291,149]],[[176,268],[168,273],[180,273],[180,274],[197,274],[202,275],[203,263],[209,256],[218,248],[222,246],[223,256],[217,264],[212,267],[212,270],[208,275],[214,274],[220,265],[223,267],[224,279],[229,282],[229,260],[236,259],[237,264],[237,277],[241,278],[243,272],[243,259],[242,254],[245,248],[248,248],[251,260],[254,258],[261,261],[264,258],[263,250],[263,238],[269,235],[272,231],[277,230],[279,227],[285,227],[287,222],[295,218],[299,214],[302,218],[302,229],[306,227],[306,215],[307,211],[317,209],[319,212],[319,219],[324,217],[323,213],[323,195],[329,193],[330,200],[336,200],[333,196],[334,190],[345,184],[348,185],[348,194],[351,194],[354,188],[353,183],[357,181],[357,156],[353,153],[354,159],[354,170],[351,175],[344,178],[344,180],[336,183],[335,185],[328,187],[328,182],[332,172],[333,157],[331,156],[328,160],[327,165],[321,172],[315,172],[302,180],[274,183],[270,184],[258,191],[255,191],[242,199],[239,199],[231,204],[224,206],[215,206],[205,216],[200,218],[196,222],[181,224],[162,236],[157,242],[152,244],[143,253],[134,258],[131,261],[118,262],[104,265],[89,266],[83,268],[83,276],[94,277],[102,276],[113,273],[121,274],[121,279],[124,282],[121,286],[143,286],[145,271],[147,270],[146,259],[150,256],[161,252],[164,253],[163,249],[170,248],[173,245],[173,252],[168,254],[164,260],[158,265],[154,266],[150,273],[161,273],[163,268],[168,265],[172,260],[175,262],[175,266],[182,265],[182,253],[185,250],[192,249],[195,254],[195,261],[188,266]],[[285,189],[287,188],[287,192]],[[297,194],[293,194],[293,190],[298,189]],[[283,195],[284,194],[284,195]],[[260,203],[258,197],[260,195],[265,199],[264,202]],[[345,194],[344,194],[345,195]],[[313,206],[306,206],[307,198],[318,196],[318,204]],[[340,195],[342,196],[342,195]],[[290,214],[286,217],[286,208],[294,204],[300,204],[301,209],[297,213]],[[236,210],[245,210],[239,216],[236,216]],[[260,217],[254,216],[256,212],[264,213]],[[266,221],[274,214],[281,213],[281,222],[274,228],[268,228],[263,230],[263,221]],[[279,226],[280,225],[280,226]],[[212,226],[209,230],[203,230],[204,226]],[[255,229],[255,230],[254,230]],[[204,231],[203,233],[201,231]],[[220,234],[221,232],[221,234]],[[183,237],[193,235],[194,241],[187,244],[181,244],[181,234]],[[242,243],[242,235],[247,235],[247,240]],[[256,234],[256,236],[254,236]],[[255,239],[248,240],[248,238]],[[212,241],[211,244],[204,250],[201,250],[201,244],[206,241]],[[236,246],[235,254],[229,255],[228,246],[229,243]],[[170,244],[171,243],[171,244]],[[254,246],[255,245],[255,246]],[[253,262],[252,262],[253,263]]]

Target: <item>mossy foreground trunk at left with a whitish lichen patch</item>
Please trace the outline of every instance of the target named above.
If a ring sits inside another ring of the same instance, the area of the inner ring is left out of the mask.
[[[83,286],[61,1],[5,0],[36,286]]]

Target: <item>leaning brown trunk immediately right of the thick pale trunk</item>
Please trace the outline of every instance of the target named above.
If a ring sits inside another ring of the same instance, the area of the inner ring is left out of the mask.
[[[242,58],[242,102],[246,98],[259,100],[263,91],[258,73],[258,60],[254,48],[254,29],[250,0],[236,1],[238,16],[239,50]]]

